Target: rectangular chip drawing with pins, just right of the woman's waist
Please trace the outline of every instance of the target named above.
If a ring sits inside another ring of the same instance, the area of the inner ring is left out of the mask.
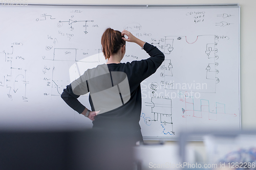
[[[163,128],[163,134],[175,134],[172,120],[172,99],[153,97],[151,98],[151,103],[146,103],[146,106],[151,106],[151,112],[154,114],[154,119],[150,120],[147,117],[147,125],[149,124],[148,122],[159,122]]]

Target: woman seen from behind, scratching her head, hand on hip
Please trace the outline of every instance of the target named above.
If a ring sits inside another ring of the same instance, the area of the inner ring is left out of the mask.
[[[125,41],[137,43],[150,58],[121,63]],[[134,135],[134,141],[143,141],[139,125],[140,83],[154,74],[164,61],[164,55],[157,47],[141,41],[126,30],[106,29],[101,44],[108,62],[84,72],[63,90],[61,98],[78,113],[93,120],[93,128],[130,133]],[[89,91],[92,111],[77,100],[79,95]]]

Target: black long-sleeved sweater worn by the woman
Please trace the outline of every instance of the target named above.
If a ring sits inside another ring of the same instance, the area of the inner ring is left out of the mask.
[[[93,121],[93,128],[113,128],[113,129],[130,129],[140,130],[139,120],[141,114],[141,87],[140,83],[147,77],[154,74],[157,68],[164,61],[164,55],[157,47],[145,43],[143,49],[150,55],[150,58],[140,61],[132,61],[119,64],[108,64],[110,72],[121,71],[127,75],[131,98],[122,106],[98,114]],[[103,82],[102,82],[103,83]],[[61,98],[78,113],[82,113],[85,107],[77,100],[79,95],[72,91],[71,84],[63,90]],[[111,100],[108,96],[102,96],[104,100]],[[94,110],[91,95],[89,95],[89,102]]]

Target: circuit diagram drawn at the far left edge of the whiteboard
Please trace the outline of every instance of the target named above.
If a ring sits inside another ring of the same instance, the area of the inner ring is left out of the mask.
[[[13,42],[8,49],[0,53],[0,88],[4,89],[4,96],[10,101],[28,102],[27,85],[29,85],[29,81],[27,69],[24,66],[26,57],[18,55],[18,50],[22,47],[22,42]]]

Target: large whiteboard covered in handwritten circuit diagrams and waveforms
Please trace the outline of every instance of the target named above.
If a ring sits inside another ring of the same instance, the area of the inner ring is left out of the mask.
[[[145,139],[240,130],[239,6],[0,8],[2,128],[92,127],[60,94],[83,71],[105,63],[100,39],[111,27],[132,32],[165,55],[141,83]],[[127,42],[122,62],[146,58]],[[88,95],[79,101],[90,108]]]

